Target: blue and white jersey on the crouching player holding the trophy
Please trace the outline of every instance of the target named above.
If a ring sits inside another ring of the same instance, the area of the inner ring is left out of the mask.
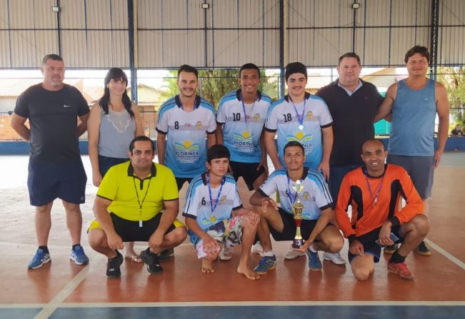
[[[304,189],[299,194],[300,201],[304,205],[302,218],[313,221],[320,217],[321,211],[333,206],[333,200],[329,193],[324,177],[320,173],[304,168],[302,185]],[[260,186],[259,193],[269,197],[274,193],[279,193],[279,206],[287,213],[292,213],[292,206],[296,201],[296,192],[292,189],[292,184],[284,168],[277,169],[266,178],[265,183]]]

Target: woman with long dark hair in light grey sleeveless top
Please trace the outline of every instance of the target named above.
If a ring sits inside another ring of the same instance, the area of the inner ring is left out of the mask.
[[[111,166],[129,160],[130,141],[144,135],[139,108],[126,92],[128,78],[124,71],[111,68],[104,83],[104,96],[92,106],[87,121],[92,182],[97,187]],[[125,248],[126,258],[142,261],[134,243],[126,243]]]

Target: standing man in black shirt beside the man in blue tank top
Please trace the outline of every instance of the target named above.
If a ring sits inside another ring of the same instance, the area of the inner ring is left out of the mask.
[[[336,69],[339,79],[316,92],[328,105],[334,123],[329,191],[335,203],[342,178],[363,164],[361,144],[374,138],[373,121],[383,101],[376,86],[359,78],[361,64],[357,54],[343,54]]]

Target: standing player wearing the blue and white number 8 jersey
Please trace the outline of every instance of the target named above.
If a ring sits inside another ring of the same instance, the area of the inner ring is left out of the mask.
[[[206,146],[216,143],[215,109],[196,95],[197,78],[194,67],[179,67],[179,95],[163,103],[156,124],[159,163],[171,168],[179,189],[205,171]]]

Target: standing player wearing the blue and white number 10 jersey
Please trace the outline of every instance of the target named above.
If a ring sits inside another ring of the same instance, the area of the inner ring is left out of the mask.
[[[239,71],[241,88],[226,93],[216,113],[216,141],[231,152],[231,171],[237,181],[242,176],[249,191],[264,183],[268,166],[263,128],[271,98],[261,93],[260,69],[244,64]]]

